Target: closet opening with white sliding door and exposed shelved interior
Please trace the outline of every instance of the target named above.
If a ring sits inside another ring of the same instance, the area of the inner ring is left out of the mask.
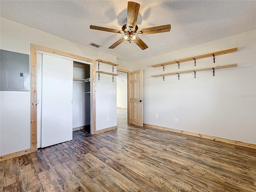
[[[74,130],[90,133],[91,74],[89,62],[38,51],[38,148],[72,140]]]

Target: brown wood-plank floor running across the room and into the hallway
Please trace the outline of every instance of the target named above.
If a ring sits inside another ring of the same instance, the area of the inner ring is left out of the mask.
[[[256,192],[256,150],[127,124],[0,164],[0,192]]]

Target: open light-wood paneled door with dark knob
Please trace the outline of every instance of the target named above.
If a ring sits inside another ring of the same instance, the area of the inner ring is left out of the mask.
[[[128,123],[143,127],[142,70],[128,74]]]

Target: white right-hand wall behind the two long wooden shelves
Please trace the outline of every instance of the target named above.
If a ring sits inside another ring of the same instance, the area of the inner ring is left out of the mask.
[[[178,60],[222,49],[238,47],[238,52],[166,66],[173,72],[238,63],[226,68],[194,74],[153,78],[164,73],[152,64]],[[256,30],[207,42],[130,64],[130,70],[143,69],[144,123],[186,130],[256,144]],[[158,118],[156,118],[158,114]],[[178,123],[174,122],[178,118]]]

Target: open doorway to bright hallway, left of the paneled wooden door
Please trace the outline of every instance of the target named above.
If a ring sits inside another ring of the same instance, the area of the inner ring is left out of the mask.
[[[128,122],[128,74],[130,71],[117,68],[116,73],[116,117],[117,123]]]

